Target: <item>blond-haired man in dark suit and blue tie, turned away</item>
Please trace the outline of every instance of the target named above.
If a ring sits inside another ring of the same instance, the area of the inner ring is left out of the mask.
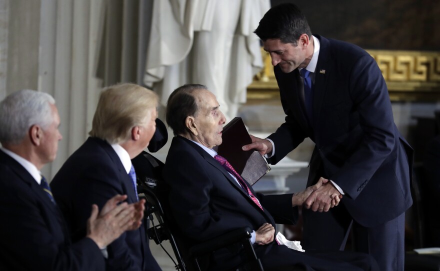
[[[105,88],[93,116],[90,137],[65,161],[51,183],[73,240],[85,234],[89,202],[103,204],[112,194],[136,202],[131,158],[149,143],[154,130],[157,95],[124,83]],[[160,270],[146,242],[145,228],[128,231],[108,247],[107,270]]]

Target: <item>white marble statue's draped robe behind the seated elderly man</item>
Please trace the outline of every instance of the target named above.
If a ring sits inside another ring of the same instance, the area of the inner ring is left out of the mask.
[[[252,31],[269,7],[269,0],[155,0],[144,83],[162,104],[184,83],[204,84],[231,119],[262,67]]]

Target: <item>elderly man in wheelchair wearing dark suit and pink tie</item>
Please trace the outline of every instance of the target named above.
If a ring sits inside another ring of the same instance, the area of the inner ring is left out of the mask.
[[[221,144],[225,117],[214,94],[199,84],[183,85],[168,98],[166,122],[174,137],[164,167],[169,205],[187,241],[197,243],[234,228],[250,227],[264,268],[302,266],[306,270],[370,270],[363,253],[309,254],[274,242],[274,218],[295,222],[298,205],[326,179],[297,194],[256,195],[246,180],[228,171],[213,147]],[[227,165],[227,163],[224,163]],[[334,196],[330,207],[339,201]],[[293,207],[292,207],[293,206]],[[211,267],[218,264],[212,262]]]

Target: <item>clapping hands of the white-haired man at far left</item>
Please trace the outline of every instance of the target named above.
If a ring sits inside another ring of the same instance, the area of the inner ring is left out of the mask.
[[[91,215],[87,220],[87,237],[99,248],[103,248],[119,237],[126,230],[140,226],[143,218],[144,199],[128,204],[121,201],[126,195],[115,195],[110,198],[98,213],[96,204],[92,205]]]

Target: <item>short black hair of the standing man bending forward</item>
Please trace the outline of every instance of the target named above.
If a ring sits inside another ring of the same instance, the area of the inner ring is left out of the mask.
[[[301,34],[311,38],[310,26],[301,10],[293,3],[282,3],[270,8],[253,31],[262,41],[279,38],[283,43],[293,43]]]

